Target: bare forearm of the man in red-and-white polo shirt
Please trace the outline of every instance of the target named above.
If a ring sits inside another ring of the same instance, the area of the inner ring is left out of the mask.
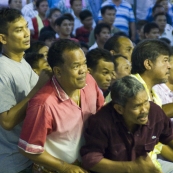
[[[61,173],[87,173],[86,170],[80,168],[79,166],[68,164],[58,158],[53,157],[46,151],[41,154],[29,154],[20,149],[20,152],[24,156],[31,159],[34,163],[54,171],[59,171]]]

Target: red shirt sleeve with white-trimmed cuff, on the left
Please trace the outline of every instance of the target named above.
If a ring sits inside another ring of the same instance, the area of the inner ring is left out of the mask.
[[[40,154],[44,151],[46,136],[52,132],[52,116],[46,106],[40,106],[33,99],[29,102],[18,147],[27,153]]]

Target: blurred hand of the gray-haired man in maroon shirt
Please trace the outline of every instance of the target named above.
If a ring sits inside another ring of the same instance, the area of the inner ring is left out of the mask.
[[[158,168],[155,167],[153,164],[151,158],[147,155],[139,157],[136,161],[136,168],[134,171],[132,170],[133,173],[162,173]]]

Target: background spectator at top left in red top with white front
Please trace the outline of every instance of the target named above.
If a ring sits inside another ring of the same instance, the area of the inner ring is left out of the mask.
[[[47,0],[37,0],[36,8],[38,11],[38,15],[32,18],[32,23],[34,27],[34,34],[32,34],[32,38],[35,40],[38,39],[41,29],[44,26],[49,25],[49,20],[46,18],[46,12],[48,10]]]

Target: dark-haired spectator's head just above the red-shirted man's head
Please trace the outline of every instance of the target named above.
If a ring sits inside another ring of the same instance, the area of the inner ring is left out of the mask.
[[[46,46],[50,47],[52,43],[55,41],[55,34],[51,31],[45,31],[40,34],[38,40],[42,41],[46,44]]]

